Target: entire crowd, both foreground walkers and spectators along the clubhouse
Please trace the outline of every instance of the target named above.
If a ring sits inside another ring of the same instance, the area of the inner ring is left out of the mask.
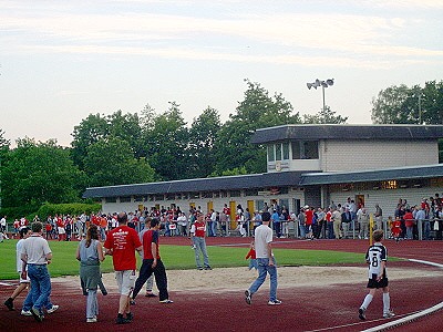
[[[372,301],[374,290],[379,287],[383,289],[383,317],[393,315],[390,310],[388,279],[384,271],[385,249],[381,245],[383,228],[387,228],[384,231],[391,231],[396,240],[414,239],[415,228],[420,229],[420,227],[423,228],[424,239],[431,238],[431,230],[435,231],[436,239],[442,239],[442,203],[437,194],[429,199],[423,198],[414,206],[410,206],[405,199],[399,199],[393,217],[389,216],[388,219],[383,219],[380,206],[374,206],[375,231],[372,236],[375,245],[369,251],[377,252],[381,268],[370,271],[372,273],[369,276],[368,283],[370,292],[359,309],[360,319],[365,319],[365,310]],[[48,264],[51,263],[52,251],[48,239],[70,241],[76,238],[79,239],[76,259],[80,261],[80,283],[86,295],[86,322],[97,322],[97,290],[100,289],[103,294],[107,293],[102,282],[100,263],[109,255],[113,260],[120,293],[116,323],[130,323],[134,319],[131,305],[135,304],[135,298],[146,282],[146,295],[157,297],[152,293],[153,276],[159,291],[159,302],[173,303],[167,291],[166,268],[159,253],[161,236],[189,237],[195,250],[196,268],[212,270],[205,238],[226,235],[229,230],[230,216],[230,209],[225,205],[222,211],[212,209],[207,214],[203,212],[200,207],[190,208],[187,214],[179,208],[162,207],[162,209],[152,208],[130,214],[91,214],[90,216],[82,214],[74,217],[55,215],[48,217],[44,224],[38,216],[32,222],[22,218],[18,220],[18,234],[21,240],[17,243],[17,269],[20,283],[11,297],[4,301],[4,305],[13,310],[14,299],[29,287],[21,314],[32,315],[41,322],[45,313],[56,311],[59,305],[50,300],[51,280]],[[281,304],[281,300],[277,298],[277,270],[271,242],[272,238],[285,237],[288,234],[286,229],[288,222],[292,221],[297,225],[298,236],[302,239],[341,239],[350,237],[351,232],[354,235],[356,231],[359,238],[371,236],[369,211],[350,197],[343,205],[336,205],[332,201],[326,209],[303,206],[298,214],[289,212],[285,206],[280,207],[274,203],[269,207],[265,205],[262,210],[251,215],[247,208],[244,209],[241,205],[238,205],[235,216],[238,234],[254,236],[246,258],[250,259],[249,269],[257,269],[258,277],[245,291],[248,304],[251,304],[253,294],[259,290],[267,274],[270,276],[268,304]],[[6,216],[2,219],[6,219]],[[138,277],[135,276],[137,251],[143,259]]]

